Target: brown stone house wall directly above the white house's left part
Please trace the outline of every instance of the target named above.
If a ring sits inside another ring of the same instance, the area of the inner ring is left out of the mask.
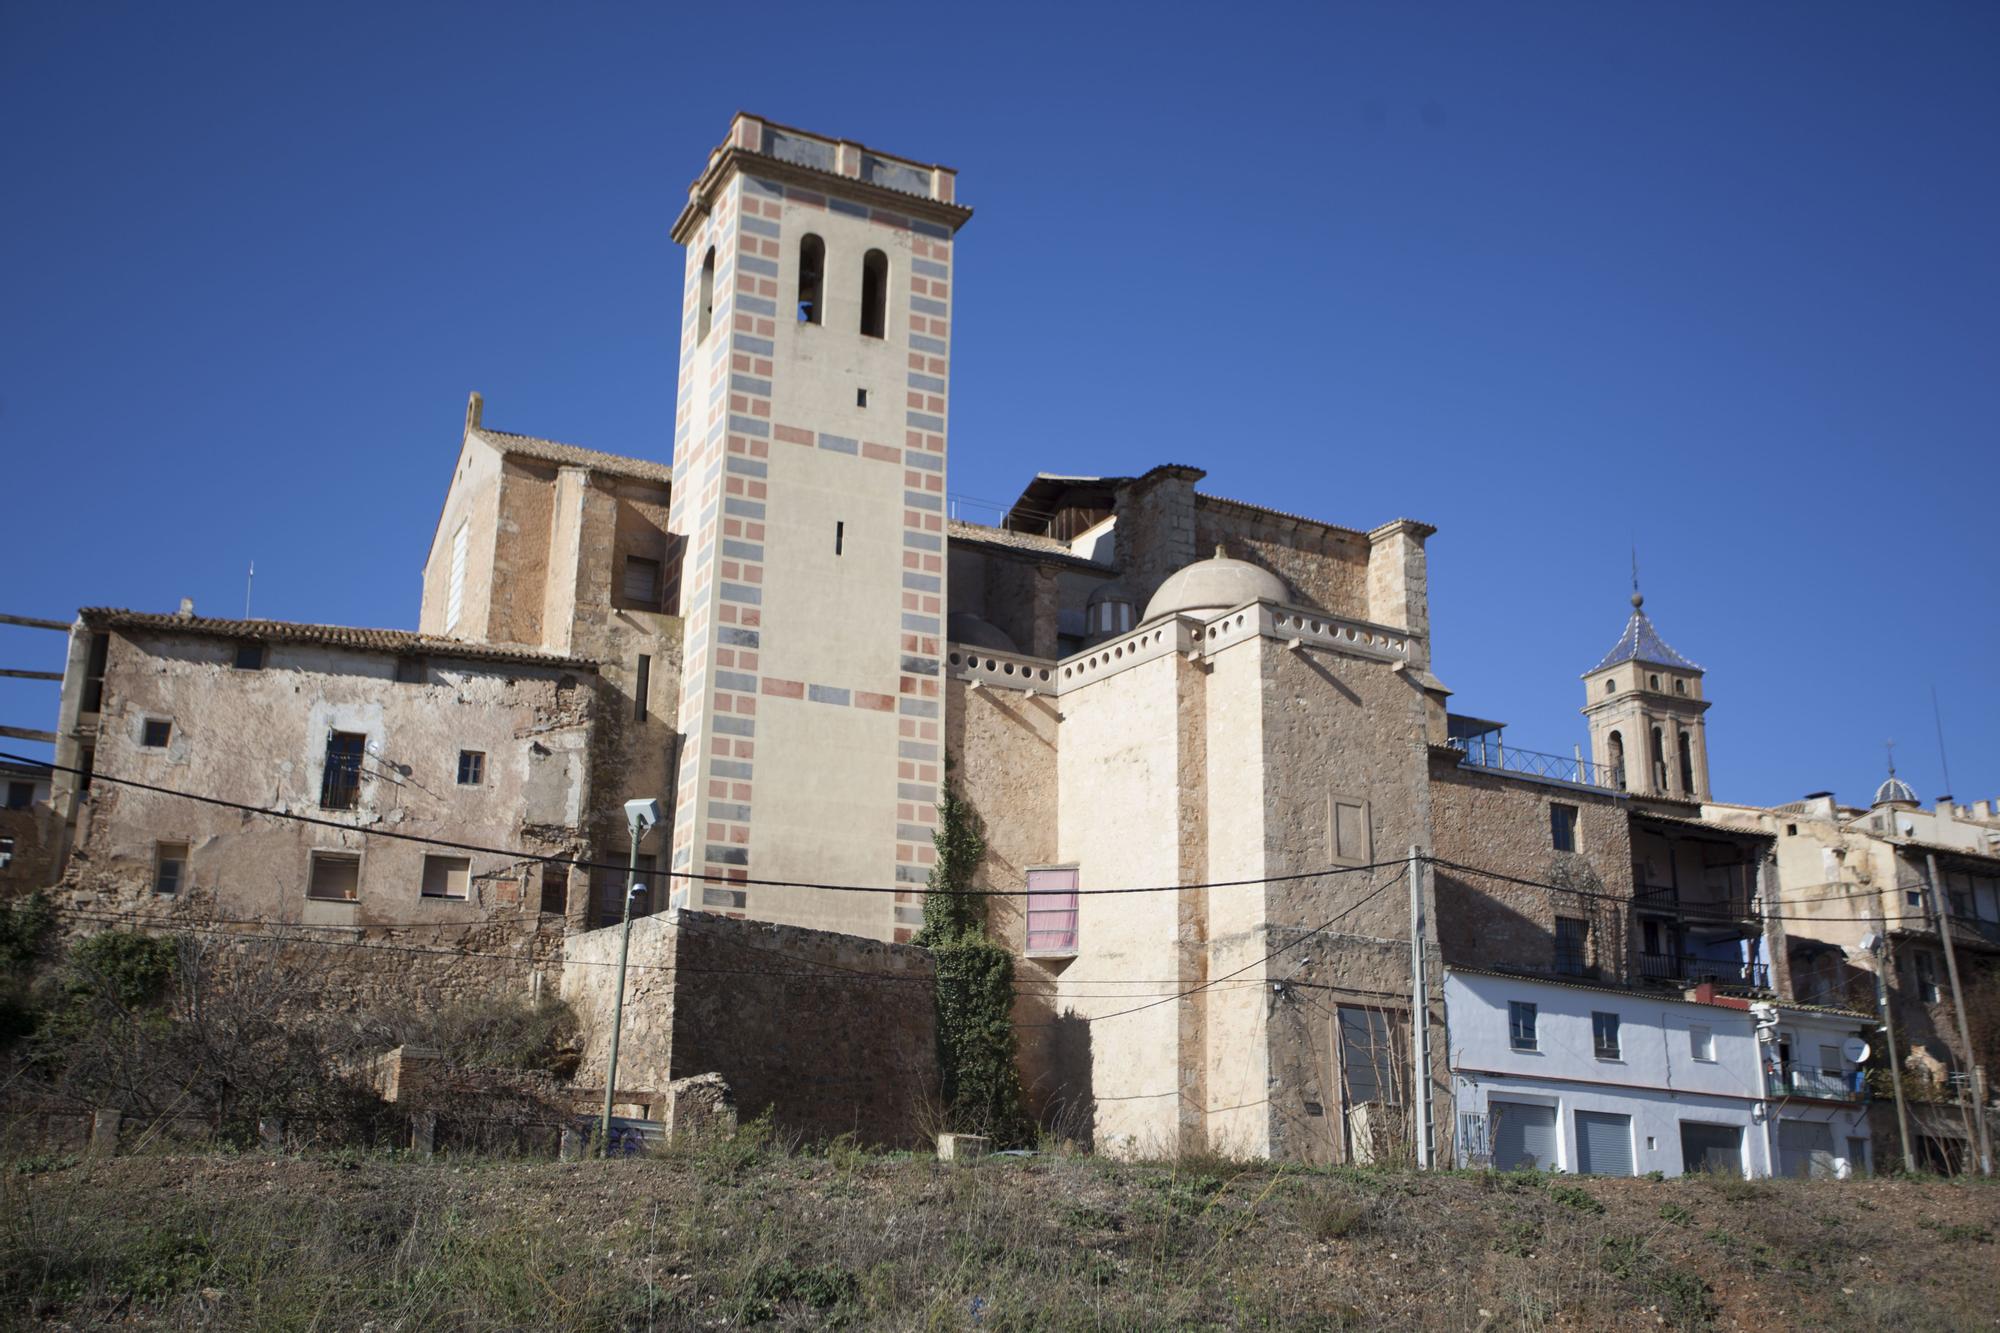
[[[1488,769],[1460,767],[1458,751],[1434,749],[1430,815],[1442,861],[1476,865],[1576,895],[1510,885],[1434,867],[1438,943],[1452,967],[1556,971],[1556,917],[1590,923],[1586,961],[1600,981],[1632,981],[1632,835],[1626,803],[1610,793],[1556,787]],[[1576,851],[1558,853],[1550,805],[1576,807]],[[1614,901],[1586,895],[1614,895]]]

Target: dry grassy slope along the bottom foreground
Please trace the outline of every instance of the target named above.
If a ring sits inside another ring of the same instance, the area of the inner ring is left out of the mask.
[[[1994,1327],[2000,1191],[760,1137],[650,1161],[28,1159],[0,1321],[204,1329]]]

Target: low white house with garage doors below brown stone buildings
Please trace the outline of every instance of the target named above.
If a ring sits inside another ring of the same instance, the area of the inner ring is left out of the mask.
[[[1588,1175],[1866,1169],[1864,1019],[1448,969],[1458,1159]],[[1758,1025],[1772,1027],[1770,1039]]]

